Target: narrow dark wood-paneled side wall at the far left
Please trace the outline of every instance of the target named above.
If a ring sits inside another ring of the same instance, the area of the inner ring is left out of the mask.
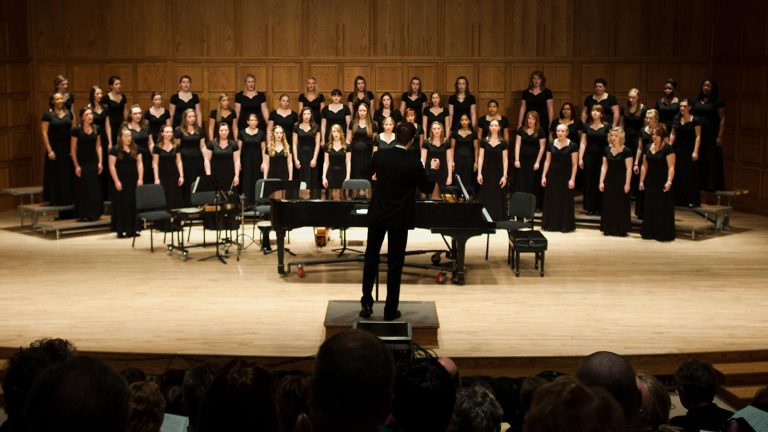
[[[0,188],[32,178],[29,50],[25,2],[0,3]],[[0,196],[0,210],[12,208]]]

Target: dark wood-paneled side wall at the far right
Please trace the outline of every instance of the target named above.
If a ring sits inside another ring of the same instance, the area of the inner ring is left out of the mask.
[[[749,190],[736,200],[768,215],[768,3],[718,3],[714,63],[726,106],[726,184]]]

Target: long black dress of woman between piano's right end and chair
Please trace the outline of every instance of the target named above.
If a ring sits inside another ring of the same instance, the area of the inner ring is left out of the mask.
[[[499,182],[504,175],[503,152],[509,146],[503,140],[496,146],[492,146],[485,139],[480,146],[483,149],[483,184],[480,186],[478,198],[494,221],[506,220],[507,187],[499,187]]]

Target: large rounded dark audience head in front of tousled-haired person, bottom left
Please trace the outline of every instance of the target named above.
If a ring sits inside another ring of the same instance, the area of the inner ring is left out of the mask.
[[[101,360],[73,357],[35,380],[26,417],[31,432],[124,432],[128,386]]]

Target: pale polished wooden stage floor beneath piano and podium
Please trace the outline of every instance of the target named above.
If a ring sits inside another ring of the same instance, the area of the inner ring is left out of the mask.
[[[764,355],[768,218],[734,213],[732,225],[728,233],[672,243],[590,228],[548,233],[544,278],[532,255],[514,276],[499,231],[487,262],[485,237],[468,243],[466,285],[408,271],[401,299],[436,303],[436,351],[457,358],[576,358],[597,350]],[[363,239],[365,231],[349,236]],[[156,234],[156,244],[161,240]],[[56,240],[20,229],[15,212],[1,214],[0,349],[65,337],[81,351],[124,355],[310,356],[324,338],[328,301],[360,296],[359,265],[309,268],[300,279],[295,272],[280,277],[276,256],[256,245],[223,265],[197,261],[212,248],[192,250],[187,262],[162,248],[151,254],[148,232],[135,249],[130,243],[104,232]],[[411,249],[441,245],[427,231],[409,240]],[[330,253],[314,246],[308,228],[291,234],[291,248],[300,258]]]

